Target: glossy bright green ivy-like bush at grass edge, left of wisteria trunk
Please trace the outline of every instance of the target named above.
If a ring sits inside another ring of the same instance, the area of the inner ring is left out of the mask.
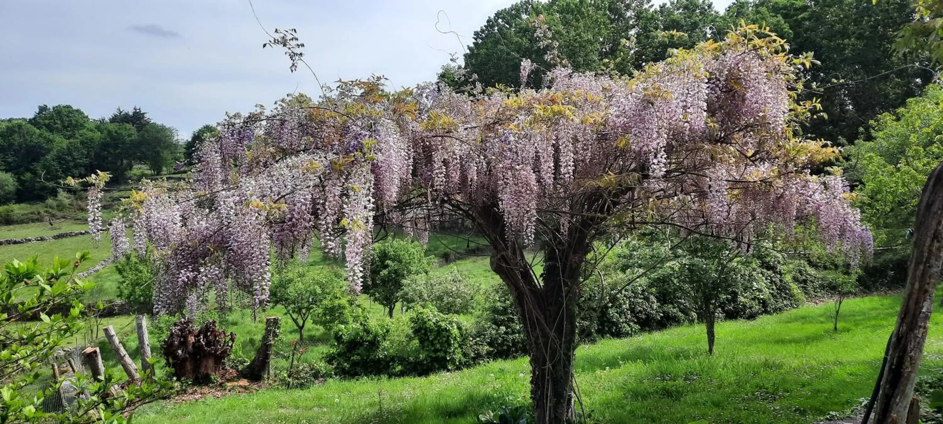
[[[409,358],[408,373],[427,374],[453,370],[462,362],[462,333],[454,316],[444,315],[434,307],[419,308],[409,317],[409,327],[419,350]]]

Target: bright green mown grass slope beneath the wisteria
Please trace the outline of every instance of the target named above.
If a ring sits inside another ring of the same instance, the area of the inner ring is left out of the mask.
[[[704,352],[701,326],[606,340],[577,351],[577,381],[597,423],[808,423],[869,395],[899,304],[900,297],[849,301],[838,333],[823,306],[724,322],[713,357]],[[924,369],[943,366],[940,319],[934,316]],[[484,410],[526,402],[528,376],[525,359],[498,361],[426,378],[156,404],[136,420],[471,423]]]

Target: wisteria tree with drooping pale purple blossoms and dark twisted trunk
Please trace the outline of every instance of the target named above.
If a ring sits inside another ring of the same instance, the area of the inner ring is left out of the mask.
[[[806,171],[838,154],[796,130],[815,106],[792,100],[810,61],[752,26],[632,77],[560,68],[539,89],[471,94],[372,78],[228,116],[193,181],[132,196],[135,241],[146,236],[160,268],[156,312],[227,285],[262,307],[270,253],[306,256],[314,236],[346,259],[357,292],[378,228],[423,238],[465,220],[520,312],[537,420],[564,422],[594,241],[669,225],[750,249],[756,232],[815,220],[830,246],[869,250],[841,176]]]

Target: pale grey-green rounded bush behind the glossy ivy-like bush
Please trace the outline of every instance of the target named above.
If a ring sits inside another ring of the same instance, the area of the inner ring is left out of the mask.
[[[452,269],[446,275],[416,275],[406,280],[400,298],[407,308],[432,305],[443,314],[469,314],[480,285],[472,285]]]

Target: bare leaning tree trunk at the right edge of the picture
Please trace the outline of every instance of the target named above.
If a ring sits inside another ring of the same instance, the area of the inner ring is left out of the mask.
[[[914,225],[914,245],[907,266],[901,312],[891,340],[875,422],[902,424],[914,397],[934,292],[943,267],[943,163],[923,187]]]

